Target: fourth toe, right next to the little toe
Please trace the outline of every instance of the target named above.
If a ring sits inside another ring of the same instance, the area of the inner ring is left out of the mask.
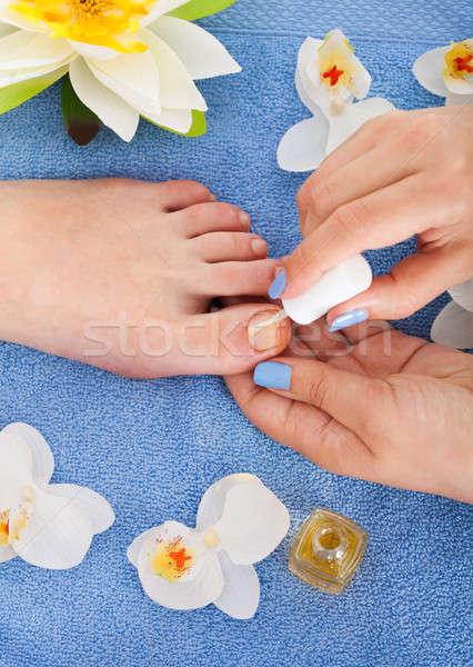
[[[251,226],[250,216],[232,203],[200,203],[175,213],[188,238],[210,233],[212,231],[248,231]]]

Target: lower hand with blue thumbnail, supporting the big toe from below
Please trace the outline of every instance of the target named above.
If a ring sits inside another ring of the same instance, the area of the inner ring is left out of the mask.
[[[473,502],[473,357],[385,322],[353,346],[313,327],[254,381],[227,378],[249,419],[332,472]]]

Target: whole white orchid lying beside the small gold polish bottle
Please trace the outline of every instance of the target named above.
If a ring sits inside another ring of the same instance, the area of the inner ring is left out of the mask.
[[[128,549],[144,591],[171,609],[213,603],[233,618],[251,618],[260,600],[253,563],[289,529],[284,505],[254,475],[224,477],[202,497],[197,527],[165,521]]]

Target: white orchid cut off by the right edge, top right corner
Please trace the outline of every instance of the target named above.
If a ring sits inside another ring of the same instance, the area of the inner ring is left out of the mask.
[[[427,51],[412,68],[419,83],[445,104],[473,103],[473,39]]]

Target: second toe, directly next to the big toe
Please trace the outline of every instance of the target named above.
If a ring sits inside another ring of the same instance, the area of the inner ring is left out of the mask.
[[[279,265],[276,259],[209,265],[203,289],[212,297],[266,296]]]

